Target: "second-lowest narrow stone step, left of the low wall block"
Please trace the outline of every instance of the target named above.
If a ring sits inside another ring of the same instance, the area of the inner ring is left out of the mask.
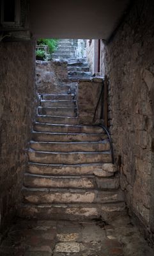
[[[51,116],[77,116],[77,108],[50,108],[50,107],[38,107],[39,115],[51,115]]]

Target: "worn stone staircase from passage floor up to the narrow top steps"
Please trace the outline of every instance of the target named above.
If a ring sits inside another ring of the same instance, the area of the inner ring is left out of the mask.
[[[28,154],[21,217],[107,220],[125,212],[107,134],[78,124],[75,94],[41,95]]]

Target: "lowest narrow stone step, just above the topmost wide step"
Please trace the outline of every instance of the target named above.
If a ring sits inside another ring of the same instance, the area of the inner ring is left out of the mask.
[[[47,124],[78,124],[77,117],[37,115],[36,122]]]

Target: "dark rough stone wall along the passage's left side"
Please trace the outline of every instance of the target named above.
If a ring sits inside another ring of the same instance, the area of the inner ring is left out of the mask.
[[[0,226],[20,201],[35,116],[34,46],[31,41],[0,45]]]

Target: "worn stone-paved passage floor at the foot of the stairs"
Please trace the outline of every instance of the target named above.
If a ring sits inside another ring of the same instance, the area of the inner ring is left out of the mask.
[[[1,256],[153,256],[127,217],[104,221],[17,220],[3,237]]]

